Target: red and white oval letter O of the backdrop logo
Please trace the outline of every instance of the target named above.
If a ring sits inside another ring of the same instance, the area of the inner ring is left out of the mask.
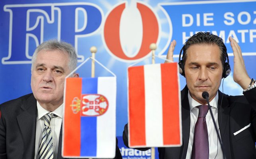
[[[150,6],[141,2],[123,2],[114,7],[104,23],[104,42],[108,52],[120,60],[138,60],[150,53],[150,44],[158,43],[159,18]]]

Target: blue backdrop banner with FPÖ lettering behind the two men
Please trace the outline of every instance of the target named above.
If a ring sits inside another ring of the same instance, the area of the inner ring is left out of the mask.
[[[127,123],[127,68],[134,62],[150,64],[149,48],[156,43],[156,54],[165,58],[170,42],[177,45],[177,62],[183,43],[199,31],[210,31],[223,38],[231,70],[233,53],[228,37],[240,45],[250,77],[256,78],[256,0],[1,0],[0,1],[0,103],[31,93],[31,58],[43,41],[58,39],[71,43],[79,64],[91,56],[117,76],[116,134],[122,140]],[[164,60],[156,58],[156,63]],[[91,65],[78,73],[91,76]],[[96,65],[95,76],[111,76]],[[181,89],[185,78],[180,76]],[[242,95],[232,72],[220,89],[228,95]],[[124,157],[150,159],[150,151],[126,149]],[[134,158],[134,159],[135,159]]]

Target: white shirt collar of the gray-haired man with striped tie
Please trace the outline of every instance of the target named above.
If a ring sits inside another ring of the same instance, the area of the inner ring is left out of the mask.
[[[36,107],[37,107],[37,121],[43,117],[45,114],[47,114],[49,111],[45,110],[38,101],[36,101]],[[55,109],[53,112],[53,114],[59,116],[60,118],[63,117],[63,103],[57,108]]]

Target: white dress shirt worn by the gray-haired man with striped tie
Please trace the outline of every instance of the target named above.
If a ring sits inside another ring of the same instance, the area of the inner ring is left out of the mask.
[[[37,118],[36,118],[36,130],[35,130],[35,159],[37,159],[37,153],[39,144],[42,140],[42,133],[44,128],[44,121],[43,116],[47,114],[49,111],[43,109],[41,105],[36,102],[37,106]],[[57,159],[58,155],[58,146],[59,146],[59,134],[61,131],[61,124],[63,118],[63,104],[59,106],[55,111],[52,112],[53,114],[57,115],[56,118],[52,118],[50,122],[51,126],[51,133],[53,135],[53,157]]]

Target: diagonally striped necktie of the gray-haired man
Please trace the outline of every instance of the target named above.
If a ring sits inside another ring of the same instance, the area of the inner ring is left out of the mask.
[[[51,133],[50,122],[51,118],[55,118],[57,115],[48,113],[43,116],[44,129],[42,134],[42,140],[38,149],[37,159],[53,159],[53,136]]]

